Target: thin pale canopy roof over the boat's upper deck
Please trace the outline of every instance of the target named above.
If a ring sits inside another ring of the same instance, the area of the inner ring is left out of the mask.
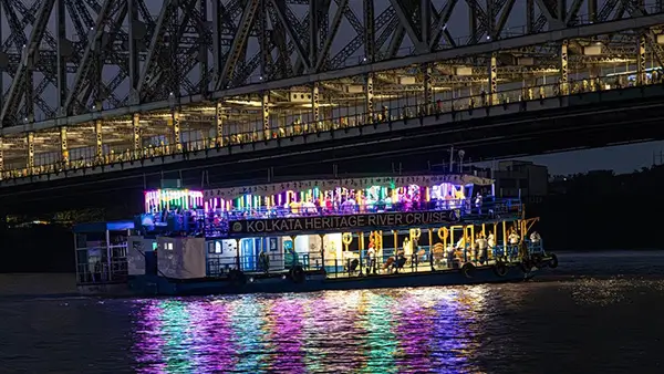
[[[334,189],[365,189],[370,187],[402,187],[409,185],[435,186],[440,184],[453,184],[457,186],[475,185],[490,186],[494,179],[483,178],[467,174],[446,174],[446,175],[414,175],[396,177],[364,177],[364,178],[336,178],[336,179],[312,179],[272,183],[257,186],[228,187],[208,189],[205,191],[206,198],[219,197],[222,199],[235,199],[245,195],[272,196],[288,190],[302,190],[310,188]]]

